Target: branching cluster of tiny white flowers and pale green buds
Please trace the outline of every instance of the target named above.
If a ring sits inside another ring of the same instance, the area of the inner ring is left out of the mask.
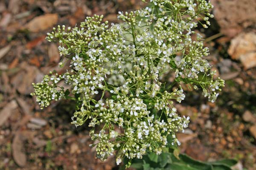
[[[102,161],[116,155],[142,158],[146,152],[160,154],[166,145],[180,144],[175,133],[188,127],[189,117],[177,113],[174,102],[185,98],[180,82],[202,89],[215,102],[224,80],[213,80],[215,72],[202,57],[209,54],[201,36],[192,40],[198,23],[204,28],[212,8],[207,0],[150,0],[151,7],[119,12],[122,24],[108,25],[103,16],[86,17],[80,27],[58,26],[47,40],[59,42],[70,71],[50,72],[33,84],[41,108],[52,100],[73,99],[77,110],[72,123],[89,121],[96,157]],[[198,18],[203,18],[200,23]],[[175,73],[174,82],[163,75]],[[72,90],[59,87],[64,81]],[[175,88],[176,87],[176,88]],[[108,97],[104,97],[108,94]],[[96,100],[95,96],[98,96]],[[116,130],[117,129],[117,130]],[[171,136],[171,140],[167,140]]]

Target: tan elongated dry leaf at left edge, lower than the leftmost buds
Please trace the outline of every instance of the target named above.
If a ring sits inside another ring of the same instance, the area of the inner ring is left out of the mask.
[[[11,116],[12,111],[17,108],[17,103],[15,100],[9,102],[3,109],[0,111],[0,126]]]

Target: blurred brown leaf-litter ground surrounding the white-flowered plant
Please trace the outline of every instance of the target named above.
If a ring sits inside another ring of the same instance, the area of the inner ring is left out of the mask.
[[[192,158],[239,160],[237,169],[256,169],[256,0],[211,0],[212,25],[196,31],[210,48],[207,57],[226,81],[216,103],[186,89],[176,105],[190,116],[178,134],[180,150]],[[118,23],[118,11],[145,6],[140,0],[0,0],[0,169],[111,170],[115,159],[95,159],[87,125],[71,125],[74,104],[52,102],[40,110],[32,82],[58,68],[58,44],[47,42],[53,26],[79,26],[86,16],[103,14]]]

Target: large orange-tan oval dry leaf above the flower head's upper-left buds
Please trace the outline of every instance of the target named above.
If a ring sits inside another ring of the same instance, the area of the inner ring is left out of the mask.
[[[54,26],[57,22],[58,14],[44,14],[29,21],[25,28],[32,32],[38,32]]]

